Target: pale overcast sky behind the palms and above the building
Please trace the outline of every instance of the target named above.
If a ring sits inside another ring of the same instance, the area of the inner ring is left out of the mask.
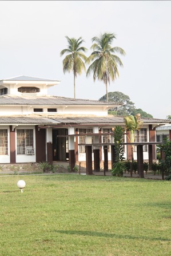
[[[114,33],[112,46],[126,55],[109,92],[122,92],[154,118],[171,115],[171,1],[0,1],[0,80],[31,76],[61,81],[54,96],[74,97],[73,73],[63,73],[60,52],[66,36],[92,38]],[[88,66],[86,66],[88,68]],[[76,98],[99,100],[106,94],[93,74],[76,79]]]

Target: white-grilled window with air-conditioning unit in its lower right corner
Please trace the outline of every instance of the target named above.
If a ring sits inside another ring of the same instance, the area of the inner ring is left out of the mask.
[[[34,155],[33,129],[17,129],[17,155]]]

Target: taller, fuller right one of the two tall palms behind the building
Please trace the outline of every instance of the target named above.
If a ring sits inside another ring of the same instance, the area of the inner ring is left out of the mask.
[[[93,72],[94,81],[98,78],[106,86],[106,101],[108,101],[108,84],[110,84],[110,80],[114,81],[119,77],[118,64],[123,66],[122,61],[115,53],[125,55],[122,48],[111,46],[114,39],[116,36],[113,33],[104,33],[100,37],[93,37],[94,44],[91,47],[93,52],[86,60],[88,64],[93,61],[88,68],[87,76]]]

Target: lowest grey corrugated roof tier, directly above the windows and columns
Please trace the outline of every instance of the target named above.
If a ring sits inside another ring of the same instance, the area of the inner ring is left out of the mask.
[[[165,119],[142,119],[144,124],[169,124]],[[34,124],[34,125],[59,125],[59,124],[113,124],[124,125],[123,117],[116,116],[62,116],[62,115],[30,115],[30,116],[0,116],[0,124]]]

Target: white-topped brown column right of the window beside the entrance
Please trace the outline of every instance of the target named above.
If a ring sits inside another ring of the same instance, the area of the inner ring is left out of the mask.
[[[93,133],[98,133],[98,127],[93,127]],[[93,142],[99,143],[99,136],[93,136]],[[100,171],[100,147],[94,146],[93,147],[93,153],[94,153],[94,171],[98,172]]]

